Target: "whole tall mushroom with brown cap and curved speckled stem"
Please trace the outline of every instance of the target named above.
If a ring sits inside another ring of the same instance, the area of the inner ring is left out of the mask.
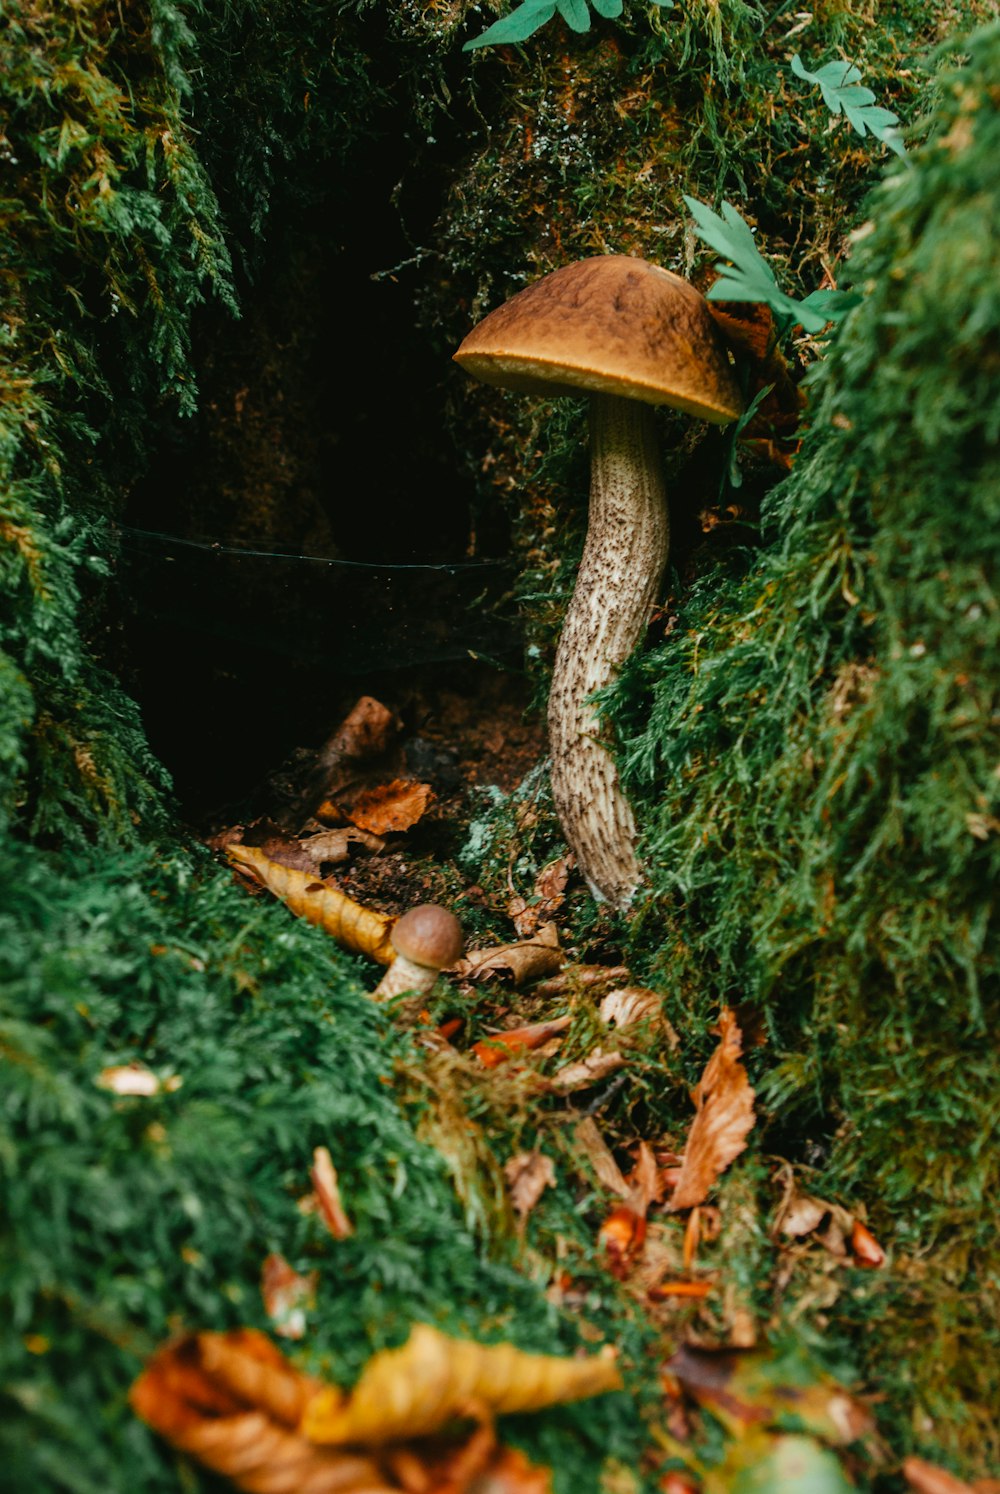
[[[743,400],[709,305],[626,254],[578,260],[492,311],[454,354],[526,394],[590,394],[590,517],[549,696],[552,792],[595,898],[628,907],[641,880],[635,820],[589,696],[643,635],[670,524],[652,405],[725,424]]]

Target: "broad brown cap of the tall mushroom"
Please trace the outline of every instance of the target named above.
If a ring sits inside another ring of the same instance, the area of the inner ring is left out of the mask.
[[[577,260],[535,281],[484,317],[454,362],[522,394],[599,390],[720,426],[743,411],[704,296],[628,254]]]

